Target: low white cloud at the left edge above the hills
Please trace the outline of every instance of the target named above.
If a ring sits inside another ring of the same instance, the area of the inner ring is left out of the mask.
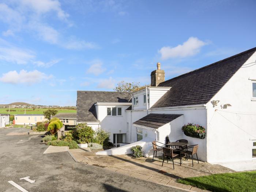
[[[20,72],[17,71],[9,71],[2,75],[0,78],[1,82],[11,83],[11,84],[34,84],[41,82],[42,80],[47,80],[52,78],[52,75],[47,76],[46,74],[34,70],[34,71],[26,71],[22,69]]]

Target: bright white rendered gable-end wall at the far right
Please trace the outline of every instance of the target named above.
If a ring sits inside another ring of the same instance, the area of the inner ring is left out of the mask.
[[[218,106],[207,103],[207,161],[210,163],[252,160],[252,142],[256,142],[256,101],[252,101],[249,78],[256,80],[256,65],[247,64],[255,61],[256,53],[211,99],[219,100]],[[231,106],[221,109],[221,105],[227,103]]]

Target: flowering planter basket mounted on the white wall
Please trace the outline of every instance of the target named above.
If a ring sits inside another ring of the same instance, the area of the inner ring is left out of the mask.
[[[204,139],[205,138],[205,128],[198,124],[188,123],[182,126],[182,131],[185,135],[193,138]]]

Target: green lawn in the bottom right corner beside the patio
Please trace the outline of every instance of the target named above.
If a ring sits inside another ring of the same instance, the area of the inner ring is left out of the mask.
[[[256,191],[256,171],[188,177],[177,182],[216,192]]]

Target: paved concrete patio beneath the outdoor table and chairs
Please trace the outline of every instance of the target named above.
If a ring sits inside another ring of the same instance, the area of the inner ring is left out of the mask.
[[[172,161],[165,161],[162,166],[162,157],[154,158],[133,158],[131,155],[96,155],[90,148],[78,148],[69,150],[72,157],[81,163],[102,167],[113,172],[120,172],[122,174],[155,182],[162,185],[171,185],[177,188],[202,191],[201,189],[179,184],[176,182],[179,178],[205,176],[216,173],[231,173],[234,170],[228,169],[221,165],[211,165],[207,162],[194,161],[192,167],[192,160],[183,159],[183,164],[180,166],[179,159],[174,160],[174,168]]]

